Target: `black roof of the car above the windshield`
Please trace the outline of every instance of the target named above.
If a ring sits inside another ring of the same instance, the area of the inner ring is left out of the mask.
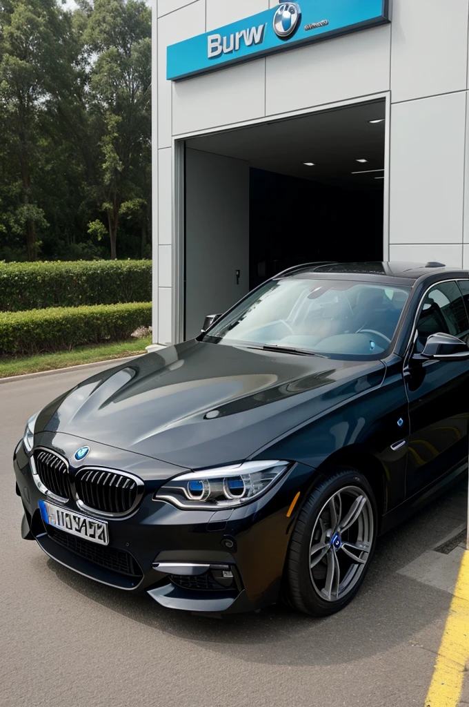
[[[439,262],[417,263],[417,262],[363,262],[363,263],[339,263],[339,262],[318,262],[298,265],[278,274],[276,278],[297,278],[324,275],[327,279],[331,276],[339,276],[338,279],[367,279],[370,281],[383,282],[394,281],[394,284],[405,284],[412,286],[417,280],[434,278],[441,276],[441,279],[469,276],[468,270],[457,267],[448,267]]]

